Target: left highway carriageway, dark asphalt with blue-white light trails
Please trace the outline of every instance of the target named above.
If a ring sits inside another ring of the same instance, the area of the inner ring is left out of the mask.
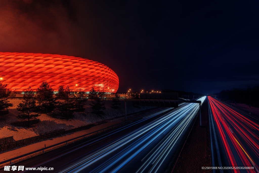
[[[170,171],[198,110],[198,103],[181,103],[16,165],[54,167],[54,172]]]

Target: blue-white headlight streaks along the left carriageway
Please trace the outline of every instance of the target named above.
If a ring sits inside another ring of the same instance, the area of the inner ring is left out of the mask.
[[[200,98],[202,102],[206,97]],[[147,161],[141,166],[141,168],[147,168],[150,163],[153,162],[151,172],[157,172],[168,153],[175,146],[175,143],[179,137],[183,134],[188,124],[193,119],[199,105],[197,103],[182,103],[181,107],[173,110],[162,118],[156,119],[145,126],[128,133],[119,139],[104,145],[95,152],[82,158],[80,161],[71,165],[67,169],[61,172],[79,172],[87,168],[91,164],[99,161],[105,156],[117,151],[112,157],[101,163],[91,172],[105,172],[112,168],[115,164],[121,162],[112,172],[117,172],[136,155],[138,155],[149,144],[155,141],[163,133],[169,133],[162,139],[162,145],[156,146],[155,152],[148,157]],[[133,141],[135,140],[135,141]],[[127,146],[126,146],[127,144]],[[141,146],[142,145],[142,146]],[[125,147],[125,148],[123,148]],[[135,151],[140,147],[138,150]],[[123,148],[123,149],[122,149]],[[129,155],[130,154],[130,155]],[[146,157],[147,158],[147,157]],[[144,170],[144,169],[142,169]]]

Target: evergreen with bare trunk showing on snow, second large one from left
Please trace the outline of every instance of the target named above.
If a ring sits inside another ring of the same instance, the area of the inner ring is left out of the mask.
[[[20,118],[28,119],[28,127],[30,126],[30,119],[35,116],[39,116],[37,113],[33,113],[36,108],[36,96],[32,91],[31,86],[24,92],[23,100],[17,106]]]

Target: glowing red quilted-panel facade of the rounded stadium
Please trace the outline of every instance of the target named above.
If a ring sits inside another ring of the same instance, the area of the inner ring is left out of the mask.
[[[54,91],[60,85],[72,91],[91,88],[115,93],[119,87],[117,74],[104,64],[72,56],[42,53],[0,52],[0,80],[11,91],[22,92],[29,86],[34,91],[47,81]]]

